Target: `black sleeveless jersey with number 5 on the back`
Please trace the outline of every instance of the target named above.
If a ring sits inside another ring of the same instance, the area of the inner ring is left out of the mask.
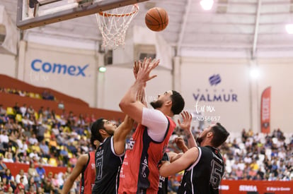
[[[178,193],[219,193],[219,184],[224,175],[224,160],[214,147],[197,147],[197,160],[185,170]]]

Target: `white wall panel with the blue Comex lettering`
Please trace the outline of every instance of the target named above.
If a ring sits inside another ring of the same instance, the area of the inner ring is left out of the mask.
[[[18,79],[95,105],[97,60],[94,51],[31,42],[21,45]]]

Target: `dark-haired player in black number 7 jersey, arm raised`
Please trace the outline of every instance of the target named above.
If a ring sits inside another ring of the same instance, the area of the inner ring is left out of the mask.
[[[125,139],[132,130],[133,122],[126,116],[119,127],[105,119],[98,119],[91,126],[91,143],[100,141],[95,155],[96,181],[92,193],[116,193],[125,154]]]

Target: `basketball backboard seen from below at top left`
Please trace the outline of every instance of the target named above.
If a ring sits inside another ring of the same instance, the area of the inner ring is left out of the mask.
[[[26,30],[143,1],[149,0],[18,0],[16,25]]]

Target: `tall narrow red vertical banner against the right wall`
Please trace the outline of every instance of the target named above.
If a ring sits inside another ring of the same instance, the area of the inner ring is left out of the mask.
[[[262,133],[270,133],[270,87],[263,90],[260,105],[260,128]]]

